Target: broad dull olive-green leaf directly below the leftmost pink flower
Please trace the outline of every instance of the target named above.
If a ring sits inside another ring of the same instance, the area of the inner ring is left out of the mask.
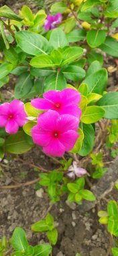
[[[25,139],[23,131],[9,135],[5,140],[5,150],[12,154],[23,154],[32,148]]]

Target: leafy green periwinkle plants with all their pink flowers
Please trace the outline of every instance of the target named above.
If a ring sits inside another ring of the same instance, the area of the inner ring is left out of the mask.
[[[19,15],[6,5],[0,8],[0,158],[5,152],[23,154],[37,144],[39,154],[42,149],[58,162],[58,168],[39,173],[39,184],[52,203],[64,194],[78,205],[95,201],[91,182],[107,172],[100,151],[106,142],[114,152],[118,92],[107,91],[103,65],[106,56],[116,63],[117,26],[117,0],[58,1],[50,14],[44,9],[32,13],[26,5]],[[5,100],[2,89],[13,76],[17,82]],[[117,204],[109,205],[107,213],[99,213],[100,222],[116,235]],[[32,230],[46,232],[56,244],[58,232],[50,214]],[[10,243],[14,256],[48,256],[52,251],[50,245],[29,245],[21,228]],[[9,250],[5,238],[0,249],[1,255]],[[112,252],[117,256],[116,248]]]

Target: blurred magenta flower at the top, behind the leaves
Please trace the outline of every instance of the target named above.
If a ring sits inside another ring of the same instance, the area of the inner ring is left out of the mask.
[[[62,22],[62,14],[61,13],[56,13],[56,15],[48,15],[47,19],[45,20],[44,23],[44,28],[46,31],[52,30],[56,28],[57,24],[60,24]]]

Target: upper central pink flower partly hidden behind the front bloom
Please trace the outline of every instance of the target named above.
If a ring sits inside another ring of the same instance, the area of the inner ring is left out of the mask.
[[[78,107],[80,93],[74,89],[66,88],[62,91],[50,90],[43,94],[44,98],[32,100],[32,106],[40,110],[56,110],[60,115],[74,115],[80,119],[81,110]]]

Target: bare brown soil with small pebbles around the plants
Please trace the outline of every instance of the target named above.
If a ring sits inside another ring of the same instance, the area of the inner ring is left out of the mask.
[[[0,7],[8,5],[18,13],[24,4],[31,9],[38,11],[36,1],[27,0],[0,0]],[[109,64],[110,63],[110,64]],[[105,67],[115,66],[111,58],[106,59]],[[117,86],[117,72],[109,73],[108,89],[115,90]],[[12,88],[15,79],[12,79]],[[11,86],[11,85],[10,85]],[[9,85],[7,90],[2,90],[4,98],[10,98],[12,88]],[[7,94],[6,94],[7,92]],[[6,96],[7,95],[7,96]],[[107,152],[106,162],[109,160]],[[47,170],[53,170],[57,165],[51,158],[45,156],[39,148],[35,147],[20,158],[35,164],[42,165]],[[111,159],[110,159],[111,160]],[[107,165],[109,167],[109,165]],[[13,185],[14,183],[26,183],[38,178],[38,172],[28,164],[22,163],[13,156],[5,156],[0,166],[0,185]],[[41,193],[42,192],[42,193]],[[109,199],[117,200],[118,192],[113,190],[107,198],[101,201],[101,209],[106,210]],[[48,242],[45,234],[34,234],[30,227],[46,215],[50,207],[50,199],[44,189],[36,190],[36,185],[20,187],[19,189],[0,190],[0,238],[5,235],[10,238],[16,226],[24,228],[30,245]],[[50,210],[58,228],[58,243],[53,248],[53,256],[75,256],[80,253],[82,256],[106,256],[109,248],[109,236],[105,226],[101,225],[97,217],[97,207],[80,214],[79,206],[75,203],[66,203],[66,196],[54,204]]]

